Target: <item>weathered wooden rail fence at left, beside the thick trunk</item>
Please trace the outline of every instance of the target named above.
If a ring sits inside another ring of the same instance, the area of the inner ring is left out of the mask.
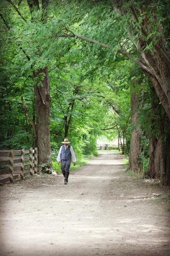
[[[0,167],[8,167],[0,170],[0,174],[9,173],[9,176],[4,179],[0,176],[2,184],[8,181],[13,182],[19,178],[19,175],[24,178],[26,175],[37,173],[37,148],[0,150]]]

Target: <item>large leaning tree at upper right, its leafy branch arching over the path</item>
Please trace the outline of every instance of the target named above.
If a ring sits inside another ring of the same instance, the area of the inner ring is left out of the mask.
[[[83,1],[82,8],[86,10],[86,15],[80,28],[69,28],[72,33],[64,33],[61,36],[90,42],[93,44],[91,52],[95,53],[99,53],[99,47],[102,46],[107,49],[108,58],[114,59],[119,53],[141,67],[152,82],[170,119],[170,50],[169,39],[165,38],[169,30],[165,21],[165,10],[169,3],[108,0],[93,1],[93,4]],[[166,184],[167,180],[168,178]],[[165,180],[161,181],[165,183]]]

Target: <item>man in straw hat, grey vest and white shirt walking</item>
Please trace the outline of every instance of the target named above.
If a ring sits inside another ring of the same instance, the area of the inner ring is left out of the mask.
[[[60,150],[58,152],[57,162],[58,162],[58,165],[61,162],[61,170],[64,176],[64,184],[68,184],[69,167],[71,164],[71,159],[74,162],[74,165],[76,165],[77,160],[76,160],[73,148],[69,145],[71,141],[68,141],[68,139],[64,139],[62,143],[64,145],[60,147]]]

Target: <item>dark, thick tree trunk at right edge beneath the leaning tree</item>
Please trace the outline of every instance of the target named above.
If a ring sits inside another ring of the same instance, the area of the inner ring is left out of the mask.
[[[156,96],[154,87],[151,88],[153,99]],[[156,96],[157,98],[157,96]],[[167,115],[162,113],[162,106],[155,100],[152,109],[155,109],[156,122],[159,129],[159,138],[155,135],[150,137],[149,143],[149,166],[147,174],[150,178],[159,178],[164,185],[170,184],[170,121]],[[158,101],[159,102],[159,101]],[[157,110],[156,110],[157,109]],[[155,129],[155,119],[152,120],[151,129]]]

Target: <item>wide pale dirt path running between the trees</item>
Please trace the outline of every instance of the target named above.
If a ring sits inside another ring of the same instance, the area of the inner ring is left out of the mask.
[[[0,187],[0,256],[168,256],[168,187],[124,176],[102,152],[62,175]],[[156,204],[157,202],[157,204]]]

